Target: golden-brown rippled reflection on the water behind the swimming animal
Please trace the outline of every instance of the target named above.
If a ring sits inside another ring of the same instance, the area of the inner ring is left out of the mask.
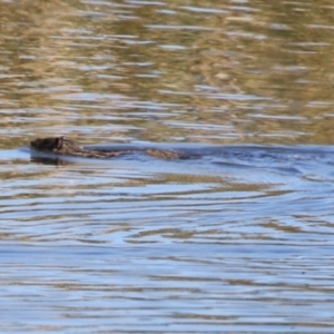
[[[2,135],[18,128],[3,147],[50,131],[332,143],[326,1],[109,4],[0,3]]]

